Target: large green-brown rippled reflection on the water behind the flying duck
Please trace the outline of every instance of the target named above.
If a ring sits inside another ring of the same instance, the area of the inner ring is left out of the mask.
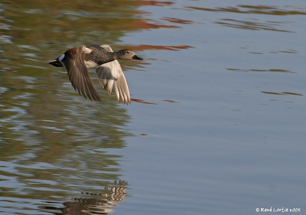
[[[98,3],[98,5],[97,5]],[[2,1],[0,190],[4,202],[65,202],[121,178],[130,116],[99,85],[102,103],[73,90],[63,68],[44,65],[78,44],[116,44],[137,19],[131,1]],[[126,62],[122,66],[130,65]],[[8,200],[13,198],[14,200]],[[23,212],[19,211],[20,214]]]

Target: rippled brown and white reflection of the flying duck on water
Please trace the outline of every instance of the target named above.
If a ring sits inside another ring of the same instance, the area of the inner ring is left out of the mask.
[[[55,215],[97,215],[112,213],[115,210],[109,207],[118,206],[117,202],[123,202],[126,195],[125,190],[127,189],[127,182],[125,181],[114,181],[115,185],[111,187],[104,187],[105,193],[87,193],[81,192],[88,196],[97,196],[97,198],[73,198],[74,202],[47,202],[47,203],[61,203],[65,207],[54,207],[54,206],[40,206],[40,209],[45,209],[49,213]],[[109,192],[110,191],[110,192]],[[45,211],[44,210],[44,211]],[[60,211],[60,212],[52,212]],[[46,211],[45,211],[46,212]]]

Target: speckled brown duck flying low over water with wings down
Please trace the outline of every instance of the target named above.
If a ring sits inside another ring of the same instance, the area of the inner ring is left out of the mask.
[[[85,98],[101,102],[88,73],[88,68],[95,68],[97,77],[109,94],[114,88],[118,102],[131,103],[129,87],[117,59],[143,60],[132,50],[122,49],[113,52],[109,45],[76,46],[68,49],[54,60],[47,61],[56,67],[65,67],[73,88]]]

